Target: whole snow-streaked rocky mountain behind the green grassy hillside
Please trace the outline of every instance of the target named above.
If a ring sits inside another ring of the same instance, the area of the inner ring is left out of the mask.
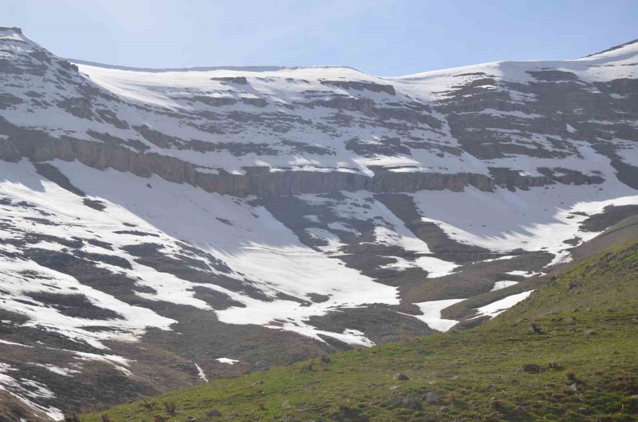
[[[485,323],[638,214],[638,42],[381,78],[0,28],[0,412]]]

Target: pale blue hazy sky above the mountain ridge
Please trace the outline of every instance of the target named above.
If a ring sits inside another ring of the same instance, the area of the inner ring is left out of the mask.
[[[352,66],[410,75],[574,59],[638,38],[638,0],[4,0],[0,25],[121,66]]]

